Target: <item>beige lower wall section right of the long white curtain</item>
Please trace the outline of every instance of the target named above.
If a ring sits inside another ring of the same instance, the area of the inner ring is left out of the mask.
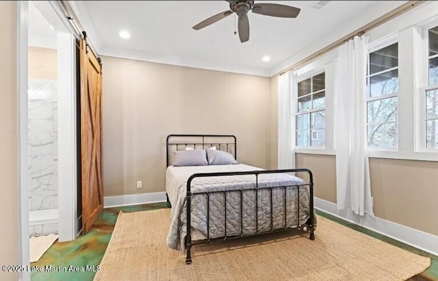
[[[438,235],[438,162],[370,159],[377,217]]]

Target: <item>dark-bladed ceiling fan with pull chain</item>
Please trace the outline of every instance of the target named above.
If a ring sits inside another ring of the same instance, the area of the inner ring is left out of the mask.
[[[214,16],[209,17],[205,21],[201,21],[193,27],[195,30],[207,27],[216,21],[226,18],[230,14],[236,13],[239,16],[237,29],[239,30],[240,42],[249,40],[249,21],[248,12],[250,10],[256,14],[263,14],[264,16],[276,16],[280,18],[296,18],[300,13],[300,8],[274,4],[274,3],[254,3],[254,1],[227,1],[230,3],[230,10],[220,12]]]

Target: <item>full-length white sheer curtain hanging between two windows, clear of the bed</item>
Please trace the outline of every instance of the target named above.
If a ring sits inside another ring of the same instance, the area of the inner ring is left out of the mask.
[[[374,216],[365,151],[368,39],[356,36],[339,47],[335,71],[337,208],[361,216]]]

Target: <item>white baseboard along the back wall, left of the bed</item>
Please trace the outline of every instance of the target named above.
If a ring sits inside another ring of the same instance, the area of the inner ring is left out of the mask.
[[[149,204],[166,202],[166,193],[154,192],[154,193],[141,193],[132,195],[121,195],[121,196],[107,196],[103,197],[103,207],[120,207],[120,206],[130,206],[138,204]]]

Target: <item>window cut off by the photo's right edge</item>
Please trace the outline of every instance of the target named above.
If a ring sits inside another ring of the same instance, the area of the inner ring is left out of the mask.
[[[438,149],[438,26],[428,30],[428,41],[426,148]]]

